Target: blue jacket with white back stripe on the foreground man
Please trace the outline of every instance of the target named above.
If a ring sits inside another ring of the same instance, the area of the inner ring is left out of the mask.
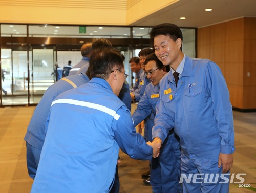
[[[67,114],[72,121],[64,123]],[[133,159],[152,157],[130,111],[104,79],[60,94],[48,121],[31,193],[109,192],[119,147]]]

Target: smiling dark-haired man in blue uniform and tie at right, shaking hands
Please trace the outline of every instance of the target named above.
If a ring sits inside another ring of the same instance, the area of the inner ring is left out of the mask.
[[[210,60],[184,55],[182,32],[174,24],[153,27],[150,37],[156,56],[172,70],[160,81],[154,141],[161,144],[173,127],[180,137],[184,192],[228,192],[229,182],[221,175],[229,177],[233,164],[234,130],[220,68]]]

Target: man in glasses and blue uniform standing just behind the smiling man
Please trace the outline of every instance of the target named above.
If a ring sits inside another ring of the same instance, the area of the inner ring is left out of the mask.
[[[141,97],[137,109],[132,118],[137,125],[145,117],[147,120],[148,132],[146,141],[152,140],[152,127],[156,115],[156,103],[159,99],[159,81],[170,70],[169,66],[163,66],[155,53],[147,56],[145,60],[145,75],[151,81],[146,86],[145,93]],[[161,147],[158,158],[151,160],[150,184],[154,193],[182,192],[179,184],[180,178],[180,145],[173,130],[169,132],[164,144]]]

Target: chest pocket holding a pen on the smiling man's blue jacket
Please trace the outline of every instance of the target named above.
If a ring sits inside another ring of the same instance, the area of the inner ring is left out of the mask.
[[[191,87],[184,91],[184,102],[187,111],[198,111],[205,106],[205,99],[202,94],[202,87]]]

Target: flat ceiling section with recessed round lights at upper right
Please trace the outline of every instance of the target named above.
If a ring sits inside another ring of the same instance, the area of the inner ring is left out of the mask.
[[[212,11],[206,12],[206,8]],[[179,27],[200,28],[240,17],[256,17],[256,0],[179,0],[131,25],[174,23]]]

